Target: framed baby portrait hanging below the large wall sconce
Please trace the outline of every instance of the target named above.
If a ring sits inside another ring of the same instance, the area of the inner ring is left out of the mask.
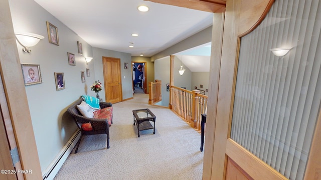
[[[25,85],[42,83],[39,64],[22,63],[21,68]]]

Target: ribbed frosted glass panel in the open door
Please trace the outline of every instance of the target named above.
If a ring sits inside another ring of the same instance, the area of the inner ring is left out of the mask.
[[[319,0],[275,0],[241,38],[231,138],[290,179],[303,179],[320,108],[320,29]]]

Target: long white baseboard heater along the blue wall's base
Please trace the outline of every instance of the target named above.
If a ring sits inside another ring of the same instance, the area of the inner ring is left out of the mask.
[[[48,168],[42,173],[44,180],[52,180],[58,173],[60,167],[67,159],[68,155],[75,147],[76,143],[80,138],[80,130],[77,129],[76,132],[70,137],[66,145],[61,149],[56,158],[49,164]]]

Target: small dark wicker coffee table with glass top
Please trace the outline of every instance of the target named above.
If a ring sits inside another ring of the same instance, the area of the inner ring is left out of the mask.
[[[155,134],[155,121],[156,116],[148,109],[135,109],[132,110],[132,114],[134,116],[134,125],[136,122],[137,129],[138,129],[138,137],[140,130],[146,130],[146,129],[154,129],[153,134]],[[154,122],[154,125],[151,125],[149,121]]]

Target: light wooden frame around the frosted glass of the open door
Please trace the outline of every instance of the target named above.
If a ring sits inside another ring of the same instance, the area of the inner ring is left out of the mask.
[[[222,55],[216,74],[219,76],[219,81],[217,82],[215,78],[210,80],[210,86],[216,87],[217,85],[217,89],[209,93],[209,99],[213,98],[215,101],[213,104],[208,104],[207,118],[209,119],[207,120],[206,135],[209,138],[205,139],[203,179],[226,179],[228,156],[235,161],[239,171],[245,169],[245,172],[254,179],[262,179],[263,177],[264,179],[286,179],[278,171],[229,138],[240,37],[257,27],[273,2],[274,0],[260,0],[259,3],[253,0],[227,0]],[[212,34],[214,38],[218,36],[214,31]],[[212,50],[213,48],[215,47],[212,44]],[[218,59],[214,60],[214,63],[218,64]],[[210,74],[212,73],[215,72],[211,66]],[[321,140],[320,124],[321,109],[318,114],[304,179],[312,179],[320,174],[321,156],[319,152],[321,144],[318,143]],[[244,174],[243,176],[248,177]]]

